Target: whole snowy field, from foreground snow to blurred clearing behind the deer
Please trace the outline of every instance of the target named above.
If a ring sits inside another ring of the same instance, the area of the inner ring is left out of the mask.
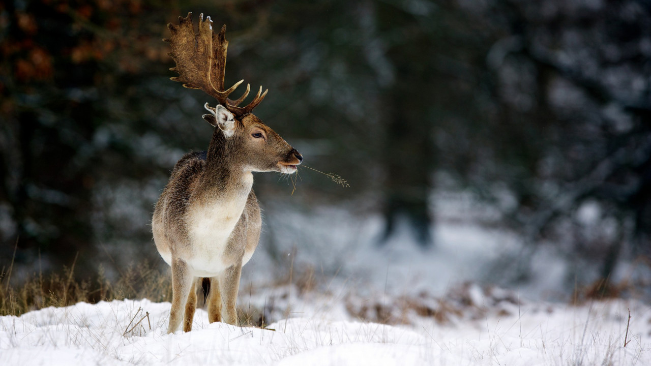
[[[546,301],[571,273],[553,253],[535,253],[526,286],[490,285],[504,268],[484,264],[522,249],[506,232],[439,219],[433,249],[406,230],[378,248],[378,217],[267,214],[292,275],[270,278],[263,240],[238,300],[266,329],[197,309],[193,331],[167,335],[169,303],[77,303],[0,317],[0,365],[651,365],[650,304]]]

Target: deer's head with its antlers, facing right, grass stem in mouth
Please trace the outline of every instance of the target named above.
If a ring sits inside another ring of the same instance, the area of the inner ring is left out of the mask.
[[[226,51],[229,46],[225,36],[226,25],[221,27],[219,34],[215,34],[210,17],[203,20],[201,14],[199,33],[195,35],[192,13],[188,13],[186,18],[178,17],[178,20],[179,25],[167,25],[172,36],[165,39],[172,46],[169,55],[176,61],[176,66],[170,70],[179,74],[171,79],[183,83],[186,88],[201,89],[219,102],[217,107],[210,107],[206,103],[204,107],[210,114],[203,115],[203,118],[217,129],[215,133],[223,134],[229,153],[237,156],[246,170],[294,173],[303,156],[251,113],[268,90],[262,92],[260,87],[251,103],[239,107],[249,95],[251,85],[247,85],[246,91],[237,100],[230,100],[229,95],[243,80],[224,89]]]

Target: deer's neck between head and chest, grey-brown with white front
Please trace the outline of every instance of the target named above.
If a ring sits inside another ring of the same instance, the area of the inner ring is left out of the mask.
[[[206,170],[201,181],[202,190],[219,192],[220,195],[231,197],[249,195],[253,186],[253,174],[244,169],[236,145],[237,141],[228,141],[221,130],[215,128],[206,155]]]

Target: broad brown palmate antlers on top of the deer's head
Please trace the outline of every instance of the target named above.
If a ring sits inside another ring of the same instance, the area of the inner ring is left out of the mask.
[[[267,95],[268,89],[262,92],[260,87],[253,101],[245,107],[238,107],[238,105],[249,95],[251,85],[247,84],[246,91],[237,100],[229,99],[230,93],[235,91],[244,80],[224,90],[226,50],[229,47],[229,41],[226,40],[226,25],[221,27],[217,35],[212,31],[210,16],[203,20],[202,13],[199,15],[199,33],[195,35],[191,12],[187,13],[186,18],[179,16],[178,22],[179,25],[167,24],[172,36],[164,39],[172,46],[172,51],[168,55],[176,62],[176,66],[170,70],[179,74],[170,79],[183,83],[183,86],[189,89],[201,89],[238,117],[251,113]]]

